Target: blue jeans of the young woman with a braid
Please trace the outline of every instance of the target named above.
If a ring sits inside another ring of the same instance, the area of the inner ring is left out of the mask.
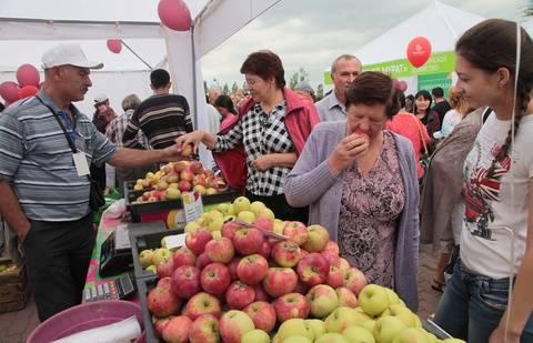
[[[509,278],[491,279],[467,271],[457,259],[435,313],[435,323],[453,337],[486,343],[507,307]],[[521,343],[533,343],[530,315]],[[503,343],[503,342],[502,342]]]

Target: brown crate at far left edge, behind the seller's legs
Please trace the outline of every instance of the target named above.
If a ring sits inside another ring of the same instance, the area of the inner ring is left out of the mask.
[[[24,265],[17,268],[11,259],[0,259],[0,313],[22,310],[29,296]]]

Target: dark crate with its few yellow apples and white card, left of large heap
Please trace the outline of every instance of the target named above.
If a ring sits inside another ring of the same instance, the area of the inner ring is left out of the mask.
[[[151,225],[144,226],[147,223],[132,225],[133,230],[129,230],[129,236],[135,279],[153,279],[155,276],[155,266],[153,266],[153,269],[148,268],[149,265],[153,265],[153,254],[160,254],[161,250],[158,251],[158,249],[161,248],[168,249],[169,252],[165,252],[164,254],[169,254],[177,245],[183,244],[180,241],[182,239],[183,229],[165,230],[163,223],[157,225],[157,228],[163,228],[162,230],[153,230]],[[163,238],[168,239],[163,241]],[[149,254],[152,254],[152,256],[149,256]],[[157,259],[164,258],[165,256],[158,256]],[[145,262],[149,260],[152,261],[152,263]]]

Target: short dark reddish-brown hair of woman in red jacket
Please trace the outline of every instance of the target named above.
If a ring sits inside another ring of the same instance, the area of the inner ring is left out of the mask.
[[[241,67],[241,73],[252,73],[263,80],[274,78],[275,85],[285,87],[285,71],[278,54],[270,50],[260,50],[248,56]]]

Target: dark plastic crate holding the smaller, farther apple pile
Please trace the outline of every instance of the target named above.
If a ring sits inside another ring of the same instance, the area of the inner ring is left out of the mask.
[[[178,200],[165,200],[158,202],[133,203],[137,198],[142,195],[144,191],[133,191],[132,183],[127,183],[124,189],[124,200],[128,211],[131,213],[133,222],[149,222],[154,220],[165,220],[167,215],[172,210],[183,209],[183,202]],[[227,190],[221,193],[212,195],[202,195],[202,203],[204,205],[217,204],[222,202],[232,202],[239,193],[233,190]]]

